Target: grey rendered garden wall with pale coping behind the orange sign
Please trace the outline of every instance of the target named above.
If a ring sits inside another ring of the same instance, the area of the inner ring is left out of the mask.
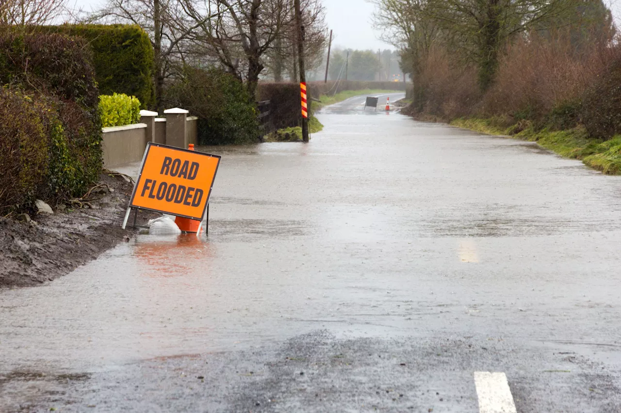
[[[143,119],[150,121],[153,118]],[[153,141],[155,143],[171,144],[171,141],[187,141],[188,143],[196,144],[198,118],[188,117],[186,119],[186,127],[184,128],[184,136],[181,138],[168,136],[168,140],[166,139],[166,118],[155,118],[153,121],[155,129]],[[102,128],[104,166],[110,168],[142,161],[147,143],[151,140],[147,133],[147,127],[147,123],[135,123],[134,125],[122,127]]]

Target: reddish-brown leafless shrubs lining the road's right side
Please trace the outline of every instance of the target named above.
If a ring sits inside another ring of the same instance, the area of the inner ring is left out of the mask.
[[[577,49],[562,35],[530,33],[507,47],[494,82],[480,94],[473,68],[432,47],[410,109],[445,120],[494,118],[499,127],[514,125],[515,133],[584,123],[592,137],[610,138],[621,132],[621,57],[615,57],[620,51],[601,43]],[[615,60],[617,66],[610,64]]]

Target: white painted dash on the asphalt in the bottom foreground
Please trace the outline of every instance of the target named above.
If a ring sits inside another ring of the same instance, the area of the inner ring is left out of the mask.
[[[516,413],[505,373],[474,372],[480,413]]]

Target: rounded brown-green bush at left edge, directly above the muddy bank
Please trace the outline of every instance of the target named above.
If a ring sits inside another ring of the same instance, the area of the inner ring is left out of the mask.
[[[84,144],[89,116],[75,103],[3,87],[0,117],[2,213],[36,198],[79,197],[93,184],[94,172],[99,178],[101,163],[89,158]]]

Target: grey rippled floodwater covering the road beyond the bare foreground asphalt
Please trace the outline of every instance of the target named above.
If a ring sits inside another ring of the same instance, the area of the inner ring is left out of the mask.
[[[361,102],[325,109],[309,144],[199,148],[222,155],[209,236],[141,235],[2,291],[0,371],[99,371],[317,329],[554,343],[619,366],[621,177]]]

